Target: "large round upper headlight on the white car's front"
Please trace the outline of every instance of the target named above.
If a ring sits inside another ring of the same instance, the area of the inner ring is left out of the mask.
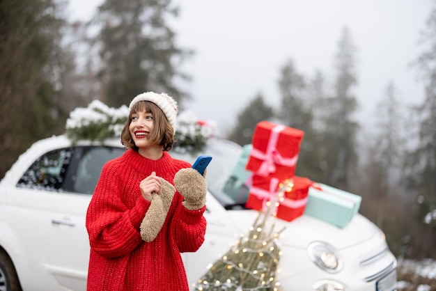
[[[342,269],[342,260],[336,249],[326,242],[311,242],[307,246],[307,255],[322,270],[337,273]]]

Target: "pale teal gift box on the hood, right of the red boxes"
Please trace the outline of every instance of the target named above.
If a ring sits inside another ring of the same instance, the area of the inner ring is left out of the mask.
[[[361,196],[326,184],[316,183],[309,189],[304,214],[344,228],[359,212]]]

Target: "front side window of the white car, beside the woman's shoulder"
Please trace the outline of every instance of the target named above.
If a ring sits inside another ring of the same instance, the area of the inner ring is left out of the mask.
[[[71,175],[71,188],[69,191],[78,194],[93,194],[95,185],[100,178],[102,167],[110,159],[123,155],[124,148],[90,146],[77,148],[75,164]]]

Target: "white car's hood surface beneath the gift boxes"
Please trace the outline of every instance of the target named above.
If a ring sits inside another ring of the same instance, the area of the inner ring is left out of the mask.
[[[231,210],[228,211],[230,219],[241,233],[247,233],[253,225],[258,212],[254,210]],[[285,228],[281,233],[280,243],[282,246],[306,249],[314,241],[323,241],[331,244],[336,249],[347,249],[365,242],[380,230],[368,219],[355,215],[345,228],[338,228],[330,223],[303,214],[293,221],[284,221],[274,218],[268,220],[269,225],[274,225],[274,231]]]

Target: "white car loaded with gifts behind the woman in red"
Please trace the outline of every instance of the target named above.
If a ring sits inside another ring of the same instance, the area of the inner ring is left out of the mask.
[[[86,209],[102,165],[123,151],[119,139],[73,145],[53,136],[20,156],[0,182],[0,291],[86,290]],[[196,253],[182,254],[193,286],[258,214],[222,191],[241,151],[235,143],[211,139],[201,152],[170,152],[191,163],[200,154],[213,157],[205,242]],[[305,214],[274,223],[286,226],[279,238],[279,290],[395,289],[396,258],[382,231],[360,214],[345,228]]]

